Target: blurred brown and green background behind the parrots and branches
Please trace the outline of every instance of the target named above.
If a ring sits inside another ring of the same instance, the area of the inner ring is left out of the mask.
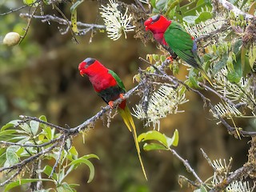
[[[18,6],[22,6],[22,2],[0,0],[0,13]],[[99,6],[97,1],[85,1],[78,8],[78,20],[102,24]],[[60,4],[59,7],[66,15],[70,14],[69,4]],[[18,15],[29,11],[23,9],[1,16],[1,42],[10,31],[24,34],[22,29],[26,28],[27,20]],[[60,16],[51,7],[46,7],[45,14]],[[7,47],[0,44],[0,126],[18,119],[20,114],[37,117],[45,114],[49,122],[59,126],[78,126],[94,116],[101,106],[106,106],[94,93],[89,80],[80,76],[79,62],[87,57],[97,58],[114,70],[122,78],[126,89],[130,90],[135,86],[132,78],[138,73],[138,67],[147,67],[138,57],[146,58],[146,54],[160,53],[155,42],[144,45],[140,39],[133,38],[132,32],[127,39],[122,36],[115,42],[107,38],[106,33],[97,32],[89,43],[90,34],[87,34],[77,37],[79,44],[76,44],[70,32],[60,34],[61,28],[58,23],[50,22],[49,25],[33,19],[21,45]],[[180,66],[178,78],[184,80],[186,74],[186,66]],[[198,95],[186,95],[190,102],[180,107],[185,112],[169,115],[161,121],[161,132],[168,136],[172,136],[174,130],[178,129],[180,142],[175,148],[178,154],[188,159],[198,175],[205,180],[213,171],[202,157],[200,148],[211,159],[226,158],[228,162],[233,157],[233,170],[242,166],[250,147],[247,144],[249,139],[242,138],[239,141],[227,134],[224,126],[216,125]],[[207,96],[210,97],[210,94]],[[131,97],[130,108],[138,101],[138,96]],[[144,128],[143,122],[138,119],[134,120],[138,133],[152,130],[152,127]],[[238,126],[245,127],[248,124],[238,122]],[[79,166],[66,178],[67,182],[80,184],[78,191],[192,191],[186,183],[182,187],[178,185],[178,175],[194,180],[193,175],[186,171],[182,162],[166,151],[142,151],[149,178],[148,182],[145,181],[134,139],[119,116],[111,121],[110,128],[106,127],[106,119],[98,120],[95,128],[86,134],[85,143],[81,135],[75,137],[73,142],[80,156],[94,153],[100,158],[99,161],[93,160],[95,177],[91,183],[86,183],[89,176],[86,166]],[[48,187],[47,184],[45,187]]]

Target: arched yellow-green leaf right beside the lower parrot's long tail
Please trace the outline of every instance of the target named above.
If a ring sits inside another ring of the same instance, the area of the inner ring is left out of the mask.
[[[156,140],[158,142],[161,142],[163,146],[168,148],[166,136],[156,130],[150,130],[146,133],[138,135],[138,142],[145,142],[148,140]]]

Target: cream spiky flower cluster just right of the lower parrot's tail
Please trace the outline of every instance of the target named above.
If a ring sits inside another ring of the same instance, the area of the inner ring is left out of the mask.
[[[150,126],[152,123],[155,126],[158,125],[160,129],[160,119],[165,118],[167,114],[177,114],[183,111],[178,110],[178,105],[181,105],[188,100],[185,98],[185,91],[182,91],[183,86],[174,89],[169,84],[165,84],[159,87],[150,96],[147,110],[143,109],[142,104],[136,105],[134,110],[134,116],[138,119],[146,119],[146,126]]]

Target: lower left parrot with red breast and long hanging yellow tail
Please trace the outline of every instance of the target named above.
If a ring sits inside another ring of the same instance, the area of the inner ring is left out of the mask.
[[[123,122],[126,124],[128,130],[133,134],[138,159],[142,166],[143,174],[147,180],[146,170],[144,168],[140,148],[138,146],[134,120],[131,116],[129,107],[126,104],[126,99],[123,97],[123,94],[126,93],[126,89],[122,80],[114,73],[113,70],[107,69],[101,62],[98,62],[98,60],[94,58],[86,58],[79,64],[78,70],[82,76],[84,76],[84,74],[88,76],[96,93],[104,100],[104,102],[110,105],[111,108],[113,108],[114,100],[118,98],[123,99],[118,105],[118,113],[122,116]]]

